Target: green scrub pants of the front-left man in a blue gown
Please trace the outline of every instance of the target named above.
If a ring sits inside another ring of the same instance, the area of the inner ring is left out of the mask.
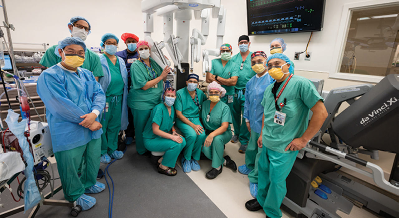
[[[67,151],[55,152],[58,174],[66,200],[75,201],[96,184],[100,168],[101,138]],[[82,163],[81,176],[78,168]]]

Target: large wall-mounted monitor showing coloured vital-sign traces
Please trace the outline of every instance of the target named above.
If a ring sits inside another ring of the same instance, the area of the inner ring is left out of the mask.
[[[248,35],[321,31],[326,0],[247,0]]]

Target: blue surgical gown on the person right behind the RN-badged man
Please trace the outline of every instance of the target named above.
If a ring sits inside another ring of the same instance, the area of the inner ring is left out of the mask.
[[[261,102],[263,100],[263,93],[270,84],[273,84],[275,80],[266,73],[263,77],[253,76],[245,86],[245,105],[243,117],[249,120],[251,129],[256,133],[260,134],[262,131],[262,116],[263,106]]]

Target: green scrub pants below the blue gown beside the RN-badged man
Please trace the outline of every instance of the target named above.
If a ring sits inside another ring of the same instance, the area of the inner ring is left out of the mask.
[[[251,183],[258,183],[258,162],[262,153],[262,148],[258,147],[260,135],[251,129],[251,138],[249,138],[247,151],[245,151],[245,165],[251,169],[248,174],[248,179]]]

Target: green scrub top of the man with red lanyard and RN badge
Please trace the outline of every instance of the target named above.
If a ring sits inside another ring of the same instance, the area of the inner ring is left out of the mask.
[[[287,79],[281,83],[276,96]],[[272,93],[273,86],[274,83],[267,86],[261,103],[265,107],[265,126],[262,132],[263,145],[273,151],[289,153],[292,151],[284,151],[284,149],[293,139],[304,134],[308,128],[310,108],[323,98],[309,79],[297,75],[292,76],[279,100],[277,100],[277,104],[280,105],[286,98],[286,105],[280,110],[280,112],[286,114],[284,126],[281,126],[274,122],[276,106]]]

